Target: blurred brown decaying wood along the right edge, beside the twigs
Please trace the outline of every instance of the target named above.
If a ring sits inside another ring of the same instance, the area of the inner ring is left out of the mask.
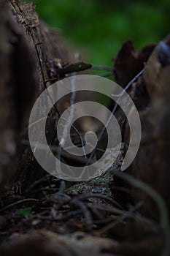
[[[142,113],[142,141],[139,152],[132,164],[132,174],[155,189],[166,201],[170,210],[170,45],[165,39],[167,49],[159,44],[144,70],[144,84],[150,97],[150,105]],[[161,53],[165,51],[164,55]],[[160,57],[161,56],[161,57]],[[163,64],[167,61],[167,64]],[[146,195],[145,195],[146,197]],[[147,199],[147,207],[154,215],[153,203]]]

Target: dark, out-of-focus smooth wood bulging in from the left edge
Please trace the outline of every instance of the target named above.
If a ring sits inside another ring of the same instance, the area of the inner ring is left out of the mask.
[[[18,132],[34,99],[34,58],[23,31],[7,4],[0,8],[0,184],[15,173],[12,159],[16,157]],[[3,184],[3,185],[2,185]]]

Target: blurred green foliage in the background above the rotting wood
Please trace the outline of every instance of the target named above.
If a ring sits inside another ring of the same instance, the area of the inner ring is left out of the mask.
[[[136,48],[169,34],[170,1],[34,0],[36,12],[93,64],[112,65],[126,39]]]

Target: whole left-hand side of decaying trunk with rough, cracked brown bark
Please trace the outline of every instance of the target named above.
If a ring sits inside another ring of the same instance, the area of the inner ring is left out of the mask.
[[[50,63],[54,59],[70,63],[74,57],[66,50],[58,32],[50,31],[39,22],[31,3],[1,0],[0,4],[0,185],[3,195],[7,184],[18,180],[31,184],[33,176],[35,179],[43,175],[31,149],[20,142],[28,138],[28,113],[34,99],[50,85],[49,78],[61,78]],[[53,136],[50,124],[47,130]],[[12,164],[14,157],[19,160]]]

